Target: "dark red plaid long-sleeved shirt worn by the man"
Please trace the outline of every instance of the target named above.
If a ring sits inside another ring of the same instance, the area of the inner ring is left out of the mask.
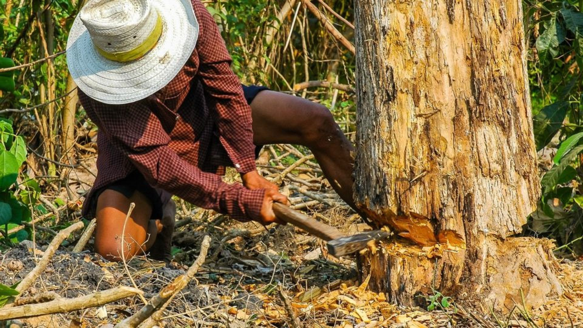
[[[192,0],[199,23],[192,56],[159,92],[131,104],[111,105],[79,91],[99,127],[97,179],[83,215],[95,215],[94,191],[138,169],[147,182],[189,203],[245,221],[259,217],[265,190],[226,184],[224,166],[255,170],[251,107],[231,71],[215,20]]]

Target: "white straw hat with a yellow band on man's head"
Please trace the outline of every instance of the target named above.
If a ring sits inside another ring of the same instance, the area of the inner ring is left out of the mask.
[[[67,65],[87,96],[132,103],[166,86],[197,38],[191,0],[90,0],[69,32]]]

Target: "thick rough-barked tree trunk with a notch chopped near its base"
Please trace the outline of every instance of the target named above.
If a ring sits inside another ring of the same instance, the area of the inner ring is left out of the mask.
[[[405,305],[431,288],[498,310],[560,295],[552,243],[511,238],[540,191],[521,1],[354,5],[355,199],[425,246],[444,238],[412,228],[465,242],[433,259],[383,244],[360,257],[361,273]]]

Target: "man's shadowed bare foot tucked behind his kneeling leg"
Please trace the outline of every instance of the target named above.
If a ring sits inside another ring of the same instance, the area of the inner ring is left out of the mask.
[[[168,201],[162,209],[162,219],[156,220],[158,235],[150,248],[150,257],[154,260],[170,262],[172,260],[172,234],[176,223],[176,203]]]

